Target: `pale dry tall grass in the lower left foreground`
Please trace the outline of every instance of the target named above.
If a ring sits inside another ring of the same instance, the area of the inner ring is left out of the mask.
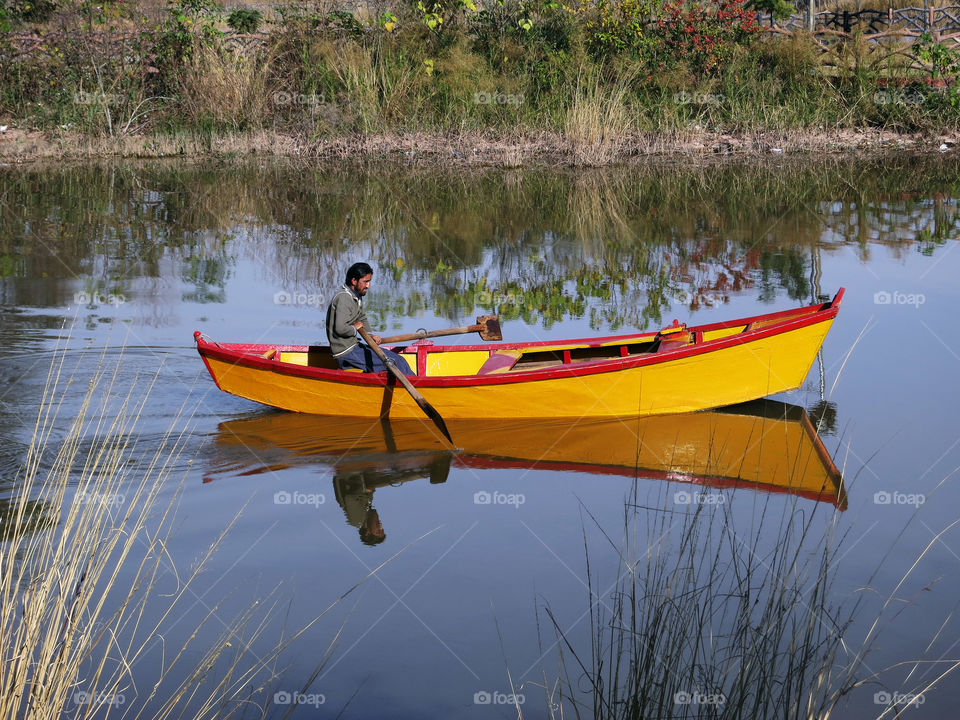
[[[124,390],[120,363],[104,371],[101,358],[58,439],[65,389],[82,380],[65,377],[64,358],[51,365],[0,528],[0,719],[219,718],[249,709],[277,680],[280,653],[326,611],[299,632],[285,633],[273,650],[258,648],[256,662],[245,657],[263,644],[276,606],[270,597],[227,617],[209,647],[200,646],[200,638],[209,634],[219,603],[197,617],[181,644],[168,637],[166,624],[185,610],[191,584],[233,523],[179,576],[172,593],[162,593],[177,493],[168,502],[160,497],[177,482],[174,463],[186,435],[171,429],[149,457],[135,454],[148,396],[136,382]],[[138,679],[146,672],[151,680],[140,694],[133,673],[138,662]]]

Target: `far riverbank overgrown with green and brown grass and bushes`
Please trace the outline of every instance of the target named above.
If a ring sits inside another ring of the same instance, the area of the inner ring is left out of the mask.
[[[8,4],[0,20],[0,157],[403,152],[590,165],[939,148],[960,128],[960,62],[945,46],[883,56],[844,41],[823,53],[807,36],[762,33],[737,1],[285,5],[269,22],[205,0],[149,19],[120,3],[44,7]]]

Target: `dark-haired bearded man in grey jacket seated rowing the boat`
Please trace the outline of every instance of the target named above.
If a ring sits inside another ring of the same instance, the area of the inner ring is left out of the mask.
[[[361,327],[370,327],[363,312],[363,296],[367,294],[372,278],[373,268],[364,262],[354,263],[347,270],[346,282],[334,294],[327,308],[327,341],[341,370],[360,368],[364,372],[384,372],[387,369],[369,346],[361,344],[357,333]],[[375,343],[380,343],[379,335],[371,337]],[[414,374],[402,356],[390,350],[383,350],[383,354],[404,375]]]

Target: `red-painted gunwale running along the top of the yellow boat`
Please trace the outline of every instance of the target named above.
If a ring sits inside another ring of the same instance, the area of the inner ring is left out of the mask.
[[[554,380],[564,378],[576,378],[586,375],[596,375],[610,372],[620,372],[647,365],[657,365],[664,362],[673,362],[676,360],[703,355],[706,353],[724,350],[738,345],[747,345],[758,340],[763,340],[776,335],[782,335],[801,328],[816,325],[821,322],[831,321],[836,318],[843,299],[844,288],[840,288],[833,300],[827,303],[817,303],[807,305],[801,308],[790,308],[763,315],[754,315],[746,318],[738,318],[706,325],[690,326],[686,328],[687,332],[710,332],[713,330],[724,330],[740,325],[747,326],[751,323],[779,320],[762,328],[755,330],[744,330],[733,335],[728,335],[714,340],[707,340],[696,344],[685,345],[675,349],[663,350],[656,353],[638,353],[636,355],[621,358],[600,358],[592,361],[562,364],[557,366],[537,368],[533,370],[520,370],[515,373],[499,373],[488,375],[445,375],[445,376],[419,376],[411,375],[410,381],[415,387],[421,388],[456,388],[456,387],[477,387],[485,385],[504,385],[514,383],[529,383],[543,380]],[[524,343],[498,343],[497,345],[446,345],[431,346],[433,350],[439,352],[445,351],[490,351],[496,350],[515,350],[515,349],[538,349],[545,347],[556,347],[562,349],[568,346],[601,347],[615,345],[618,341],[630,340],[637,342],[644,338],[656,337],[657,332],[635,333],[629,335],[614,335],[603,338],[578,338],[573,340],[545,340]],[[325,382],[334,382],[341,385],[353,385],[357,387],[384,387],[392,380],[389,374],[382,373],[355,373],[343,370],[331,370],[321,367],[309,367],[304,365],[294,365],[292,363],[280,363],[275,359],[267,359],[257,354],[256,348],[263,351],[272,349],[277,352],[306,352],[310,346],[306,345],[277,345],[277,344],[246,344],[246,343],[226,343],[221,345],[215,341],[207,340],[199,330],[194,333],[194,340],[197,343],[197,351],[203,357],[211,376],[220,386],[219,381],[213,369],[210,367],[208,357],[234,365],[281,375],[291,375],[303,377],[306,379],[320,380]],[[237,346],[248,348],[246,351],[235,350]],[[222,389],[222,388],[221,388]]]

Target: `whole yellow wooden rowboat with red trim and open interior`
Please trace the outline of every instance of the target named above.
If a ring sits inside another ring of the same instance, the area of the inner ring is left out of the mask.
[[[394,348],[412,384],[449,422],[459,418],[587,418],[691,412],[755,400],[803,383],[843,298],[729,322],[595,339]],[[283,410],[416,418],[387,373],[339,370],[326,346],[219,343],[194,333],[225,392]]]

